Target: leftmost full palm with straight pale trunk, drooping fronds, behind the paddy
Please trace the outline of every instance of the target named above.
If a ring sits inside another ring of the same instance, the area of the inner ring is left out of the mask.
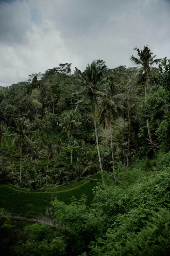
[[[21,169],[22,169],[22,153],[26,152],[27,146],[35,146],[32,140],[28,137],[31,134],[34,134],[35,131],[30,131],[32,125],[29,119],[26,117],[18,118],[15,121],[15,127],[8,127],[7,129],[10,131],[14,131],[13,134],[9,135],[8,137],[12,139],[11,147],[15,147],[15,153],[20,149],[20,186],[21,186]]]

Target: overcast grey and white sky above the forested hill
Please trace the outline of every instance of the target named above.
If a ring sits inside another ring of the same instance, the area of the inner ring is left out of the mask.
[[[133,66],[134,47],[170,59],[170,0],[0,0],[0,86],[72,62]]]

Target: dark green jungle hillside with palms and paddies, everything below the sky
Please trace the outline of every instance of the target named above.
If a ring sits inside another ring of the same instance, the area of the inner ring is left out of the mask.
[[[1,212],[56,223],[11,255],[169,255],[170,61],[135,51],[0,88]]]

